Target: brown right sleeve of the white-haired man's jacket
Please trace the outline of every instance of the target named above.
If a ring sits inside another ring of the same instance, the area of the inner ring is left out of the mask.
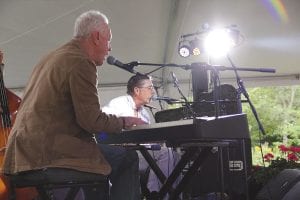
[[[122,130],[122,119],[107,115],[100,109],[95,65],[88,61],[78,63],[70,72],[69,86],[79,126],[90,133],[114,133]]]

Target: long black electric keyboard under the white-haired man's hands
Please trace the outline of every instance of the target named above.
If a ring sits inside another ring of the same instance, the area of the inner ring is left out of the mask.
[[[250,139],[246,114],[215,117],[197,117],[180,121],[139,125],[120,134],[107,134],[100,143],[150,143],[180,144],[200,141]]]

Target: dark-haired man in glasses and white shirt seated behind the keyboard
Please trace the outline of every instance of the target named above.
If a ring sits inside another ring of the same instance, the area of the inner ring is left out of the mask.
[[[150,103],[155,94],[151,78],[146,75],[137,74],[132,76],[127,83],[127,95],[112,99],[102,108],[107,114],[117,116],[135,116],[150,124],[150,116],[144,105]],[[175,167],[179,155],[172,149],[161,147],[161,150],[150,152],[162,172],[169,176]],[[139,169],[146,171],[149,167],[144,157],[139,153]],[[150,170],[147,187],[150,191],[159,191],[162,184],[154,172]]]

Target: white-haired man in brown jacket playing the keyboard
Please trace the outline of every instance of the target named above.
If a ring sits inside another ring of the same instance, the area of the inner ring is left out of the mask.
[[[5,174],[51,168],[111,174],[111,199],[140,198],[136,152],[115,149],[112,158],[93,137],[144,123],[100,109],[96,66],[111,50],[111,37],[107,17],[87,11],[76,19],[73,39],[36,65],[8,138]],[[114,159],[114,165],[106,158]],[[101,199],[97,188],[85,191],[86,199]]]

